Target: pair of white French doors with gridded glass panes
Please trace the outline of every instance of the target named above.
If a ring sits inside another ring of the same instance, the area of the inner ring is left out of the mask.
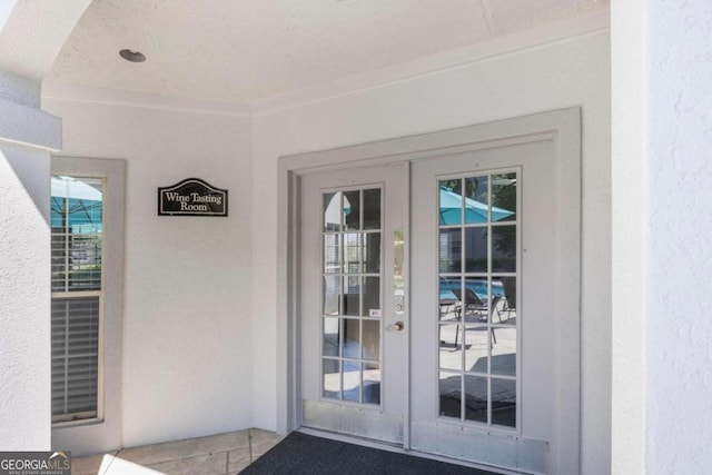
[[[563,276],[578,231],[564,236],[562,197],[578,185],[562,185],[557,147],[533,136],[299,175],[303,427],[577,471],[578,283]]]

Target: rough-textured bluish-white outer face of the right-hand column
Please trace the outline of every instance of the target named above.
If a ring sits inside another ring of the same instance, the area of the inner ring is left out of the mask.
[[[712,4],[651,2],[649,21],[646,467],[704,473],[712,471]]]

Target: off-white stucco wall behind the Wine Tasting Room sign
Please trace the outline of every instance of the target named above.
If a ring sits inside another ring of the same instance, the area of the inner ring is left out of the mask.
[[[249,119],[91,99],[43,106],[63,120],[63,155],[127,160],[122,445],[248,427]],[[157,216],[157,187],[191,177],[229,190],[228,218]]]

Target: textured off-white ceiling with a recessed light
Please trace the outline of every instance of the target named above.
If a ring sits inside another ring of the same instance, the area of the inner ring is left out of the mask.
[[[255,102],[609,7],[609,0],[95,0],[58,82]],[[148,60],[130,63],[121,49]]]

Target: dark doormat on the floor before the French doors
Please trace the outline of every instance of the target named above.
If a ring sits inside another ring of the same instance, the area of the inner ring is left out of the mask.
[[[496,475],[476,468],[293,432],[241,474]]]

